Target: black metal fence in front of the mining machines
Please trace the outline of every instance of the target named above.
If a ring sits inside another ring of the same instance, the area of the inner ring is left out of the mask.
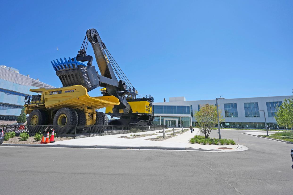
[[[70,125],[65,127],[54,125],[40,125],[40,126],[28,126],[28,125],[0,125],[4,133],[14,131],[16,136],[23,132],[27,132],[30,136],[34,136],[35,133],[41,132],[44,136],[49,132],[52,133],[54,129],[55,137],[63,138],[81,138],[81,137],[93,137],[102,135],[115,135],[125,133],[137,133],[154,130],[162,130],[167,128],[166,125],[151,125],[151,126],[115,126],[115,125]]]

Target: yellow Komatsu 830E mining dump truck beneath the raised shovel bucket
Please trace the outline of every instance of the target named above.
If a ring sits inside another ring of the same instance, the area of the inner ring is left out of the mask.
[[[96,109],[119,105],[115,96],[90,97],[81,85],[56,89],[30,89],[40,93],[25,97],[28,124],[37,125],[108,125],[105,113]]]

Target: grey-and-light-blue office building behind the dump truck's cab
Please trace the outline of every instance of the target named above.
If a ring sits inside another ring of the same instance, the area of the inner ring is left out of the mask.
[[[24,97],[37,93],[30,89],[55,88],[51,85],[32,79],[29,75],[19,74],[17,69],[0,66],[0,124],[16,122],[24,105]]]

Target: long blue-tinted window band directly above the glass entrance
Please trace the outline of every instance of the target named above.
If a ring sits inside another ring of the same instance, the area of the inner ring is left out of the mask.
[[[154,105],[155,114],[191,114],[191,106]]]

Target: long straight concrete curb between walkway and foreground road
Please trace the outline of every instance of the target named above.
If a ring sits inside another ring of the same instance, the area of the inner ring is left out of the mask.
[[[58,148],[96,148],[96,149],[151,149],[151,150],[193,150],[193,151],[221,151],[217,149],[202,149],[189,147],[160,147],[160,146],[93,146],[93,145],[62,145],[62,144],[1,144],[0,146],[22,147],[58,147]]]

